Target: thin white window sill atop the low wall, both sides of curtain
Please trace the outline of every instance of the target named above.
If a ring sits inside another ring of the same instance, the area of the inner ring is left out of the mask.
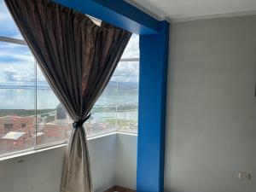
[[[93,137],[87,137],[87,141],[90,140],[95,140],[101,137],[108,137],[111,135],[116,135],[116,134],[122,134],[122,135],[129,135],[129,136],[137,136],[136,133],[130,133],[130,132],[123,132],[123,131],[112,131],[112,132],[108,132],[108,133],[104,133],[104,134],[99,134],[97,136],[93,136]],[[52,143],[50,143],[51,145],[49,146],[49,144],[47,145],[42,145],[39,146],[38,148],[31,148],[31,149],[26,149],[26,150],[22,150],[22,151],[18,151],[15,153],[11,153],[11,154],[3,154],[4,156],[0,156],[0,161],[2,160],[9,160],[9,159],[14,159],[17,157],[22,157],[22,156],[26,156],[29,154],[36,154],[36,153],[40,153],[40,152],[44,152],[47,150],[51,150],[51,149],[55,149],[55,148],[62,148],[67,146],[67,143],[57,143],[55,145],[52,145]]]

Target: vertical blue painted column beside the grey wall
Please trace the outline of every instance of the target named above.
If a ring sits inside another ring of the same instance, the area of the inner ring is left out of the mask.
[[[140,36],[137,192],[162,192],[164,186],[166,81],[169,23]]]

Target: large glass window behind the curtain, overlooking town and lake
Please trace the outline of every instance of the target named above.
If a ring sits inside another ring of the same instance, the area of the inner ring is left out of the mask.
[[[0,2],[0,156],[65,143],[72,119]],[[87,137],[137,133],[138,36],[133,35],[108,86],[84,124]]]

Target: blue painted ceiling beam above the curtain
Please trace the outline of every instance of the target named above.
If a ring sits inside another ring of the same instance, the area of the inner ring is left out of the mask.
[[[139,35],[160,31],[160,22],[120,0],[52,0]]]

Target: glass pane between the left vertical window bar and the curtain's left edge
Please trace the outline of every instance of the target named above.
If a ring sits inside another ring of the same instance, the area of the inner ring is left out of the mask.
[[[37,66],[37,145],[64,143],[71,134],[72,119]]]

